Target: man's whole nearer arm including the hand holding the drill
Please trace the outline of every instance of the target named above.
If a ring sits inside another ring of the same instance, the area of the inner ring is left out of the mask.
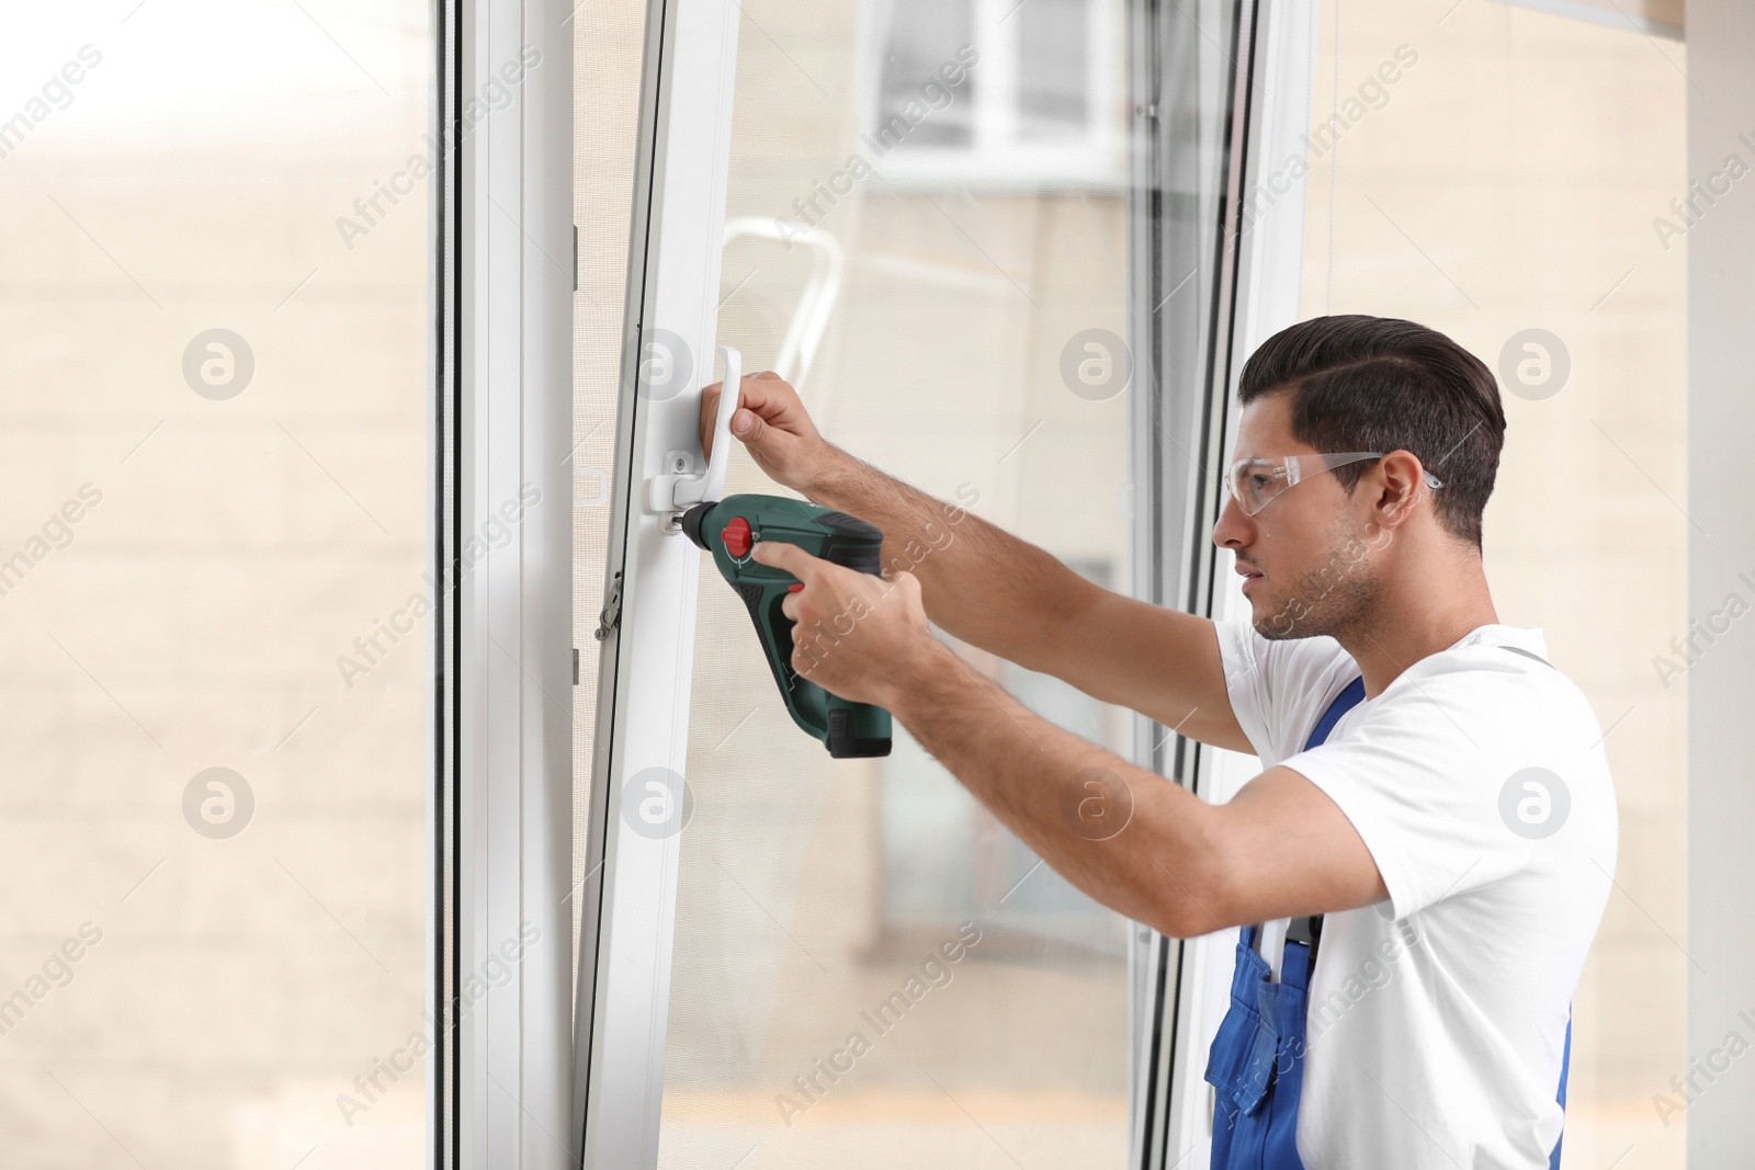
[[[1064,731],[932,635],[913,572],[879,579],[756,540],[799,577],[792,668],[830,695],[895,716],[981,803],[1072,884],[1186,938],[1239,923],[1388,896],[1364,840],[1320,788],[1269,768],[1228,803]]]

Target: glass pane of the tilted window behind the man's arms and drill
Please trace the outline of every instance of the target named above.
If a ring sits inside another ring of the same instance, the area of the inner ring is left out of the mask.
[[[1064,354],[1086,356],[1081,333],[1127,335],[1125,191],[863,174],[885,95],[967,77],[914,135],[965,126],[993,100],[983,86],[1007,86],[1016,109],[1000,9],[741,9],[720,339],[746,370],[792,379],[856,456],[976,498],[1125,589],[1132,388],[1062,374]],[[1058,53],[1078,56],[1057,58],[1064,72],[1083,67],[1079,42]],[[1120,119],[1120,70],[1113,84],[1102,109]],[[839,286],[813,284],[835,265]],[[735,447],[725,491],[792,495]],[[830,760],[786,716],[706,558],[698,607],[660,1165],[1121,1165],[1128,924],[1041,867],[900,724],[888,758]],[[953,646],[1044,717],[1128,753],[1125,712]],[[869,1051],[849,1056],[855,1033]]]

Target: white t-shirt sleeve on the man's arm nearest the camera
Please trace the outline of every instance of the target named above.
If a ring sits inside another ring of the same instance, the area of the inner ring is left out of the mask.
[[[1529,860],[1530,842],[1501,814],[1501,786],[1520,753],[1479,686],[1444,675],[1385,691],[1343,740],[1281,761],[1353,823],[1390,893],[1378,907],[1386,917],[1486,886]]]

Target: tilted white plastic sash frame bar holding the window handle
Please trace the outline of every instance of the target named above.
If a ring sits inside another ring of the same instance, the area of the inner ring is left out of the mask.
[[[570,1135],[586,1166],[656,1166],[681,840],[635,831],[623,793],[648,768],[686,774],[700,551],[644,507],[669,451],[698,451],[695,386],[655,391],[641,354],[688,354],[693,382],[718,330],[737,74],[735,0],[651,0],[641,79],[618,475],[609,572],[618,621],[598,660],[586,881],[579,889]],[[570,158],[570,154],[569,154]],[[663,339],[663,340],[658,340]],[[632,470],[632,474],[630,474]],[[637,798],[637,796],[635,796]]]

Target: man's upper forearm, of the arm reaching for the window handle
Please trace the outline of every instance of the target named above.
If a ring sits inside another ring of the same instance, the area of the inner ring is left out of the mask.
[[[806,495],[881,528],[885,570],[920,579],[921,603],[941,628],[1009,661],[1041,661],[1044,631],[1055,628],[1081,577],[965,510],[981,498],[972,484],[960,484],[956,500],[935,500],[834,451]]]

